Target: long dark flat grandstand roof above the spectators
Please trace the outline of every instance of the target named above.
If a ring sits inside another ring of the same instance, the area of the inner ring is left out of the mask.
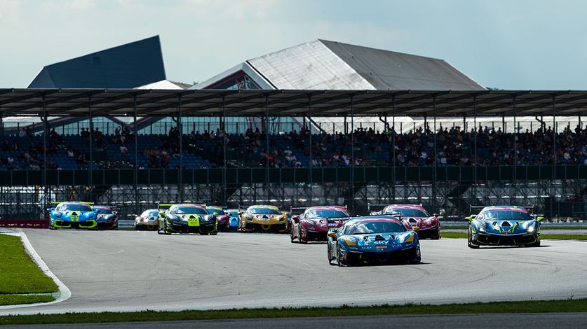
[[[0,89],[1,116],[557,116],[587,111],[587,91]],[[352,98],[352,100],[351,100]],[[514,102],[515,99],[515,102]],[[395,106],[393,106],[395,104]],[[310,105],[310,106],[309,106]]]

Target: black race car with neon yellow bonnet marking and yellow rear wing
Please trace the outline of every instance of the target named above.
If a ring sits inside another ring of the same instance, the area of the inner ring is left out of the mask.
[[[201,204],[159,204],[157,233],[199,233],[216,235],[216,216]]]

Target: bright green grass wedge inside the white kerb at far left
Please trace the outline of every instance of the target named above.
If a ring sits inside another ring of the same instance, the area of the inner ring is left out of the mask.
[[[55,282],[29,257],[20,237],[0,235],[0,294],[57,291]]]

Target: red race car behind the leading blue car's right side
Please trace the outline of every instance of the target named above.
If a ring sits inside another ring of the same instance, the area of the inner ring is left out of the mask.
[[[369,204],[369,207],[377,204]],[[400,219],[407,228],[417,226],[420,239],[440,239],[440,220],[438,214],[430,216],[421,204],[389,204],[382,211],[373,211],[371,215],[391,215]]]

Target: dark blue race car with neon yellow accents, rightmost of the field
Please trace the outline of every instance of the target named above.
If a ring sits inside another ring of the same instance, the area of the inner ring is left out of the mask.
[[[465,219],[469,221],[469,248],[540,246],[540,222],[544,217],[532,216],[525,207],[483,207],[478,215],[471,215]]]

